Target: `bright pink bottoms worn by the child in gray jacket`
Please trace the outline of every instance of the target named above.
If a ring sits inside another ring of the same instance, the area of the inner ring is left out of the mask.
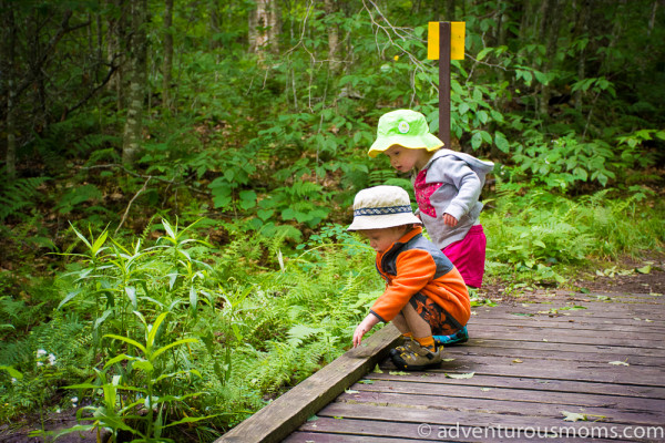
[[[442,249],[462,275],[467,286],[480,288],[484,274],[485,246],[488,239],[481,225],[472,226],[464,238]]]

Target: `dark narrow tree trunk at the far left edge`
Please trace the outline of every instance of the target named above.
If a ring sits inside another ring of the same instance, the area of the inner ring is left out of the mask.
[[[16,112],[16,84],[14,84],[14,48],[16,48],[16,23],[12,8],[6,1],[0,2],[0,8],[4,10],[2,17],[2,60],[0,69],[4,72],[3,85],[7,91],[7,116],[4,119],[7,132],[7,154],[6,168],[7,178],[13,181],[17,177],[17,112]],[[0,79],[1,81],[2,79]]]

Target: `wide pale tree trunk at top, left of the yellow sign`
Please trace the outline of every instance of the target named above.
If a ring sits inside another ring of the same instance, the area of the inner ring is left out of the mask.
[[[249,11],[249,52],[262,61],[266,52],[277,53],[279,25],[277,0],[256,0],[256,9]]]

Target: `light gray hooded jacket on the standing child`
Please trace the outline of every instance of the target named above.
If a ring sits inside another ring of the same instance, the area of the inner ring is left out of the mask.
[[[418,212],[427,233],[441,249],[464,238],[469,229],[479,222],[482,203],[480,192],[485,175],[494,168],[492,162],[484,162],[472,155],[439,150],[424,165],[426,183],[442,183],[430,197],[430,204],[437,210],[437,217]],[[416,173],[411,182],[416,182]],[[456,227],[443,223],[443,214],[448,213],[458,219]]]

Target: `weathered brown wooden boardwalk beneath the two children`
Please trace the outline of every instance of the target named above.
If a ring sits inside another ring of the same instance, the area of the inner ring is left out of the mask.
[[[380,361],[378,371],[350,387],[348,379],[341,388],[338,383],[339,392],[349,389],[326,399],[325,406],[305,409],[309,421],[296,429],[299,416],[290,434],[282,429],[256,441],[665,441],[665,297],[577,293],[531,300],[475,308],[472,339],[447,348],[447,361],[427,372],[392,367],[383,348],[395,344],[396,331],[383,328],[369,352]],[[374,362],[369,359],[364,371]],[[317,385],[330,391],[320,380],[307,391]],[[310,394],[320,399],[323,391]],[[284,405],[296,403],[286,399]],[[241,426],[267,425],[284,415],[279,405],[273,412]],[[244,436],[234,440],[232,431],[221,440],[255,441]]]

